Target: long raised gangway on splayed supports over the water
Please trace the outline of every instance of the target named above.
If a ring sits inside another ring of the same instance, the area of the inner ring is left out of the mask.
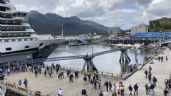
[[[53,62],[53,61],[72,60],[72,59],[83,59],[85,61],[85,64],[83,66],[83,70],[87,71],[87,72],[92,72],[92,71],[98,71],[97,68],[95,67],[95,65],[93,64],[93,61],[92,61],[93,58],[95,58],[96,56],[112,53],[112,52],[115,52],[115,51],[121,51],[120,61],[127,60],[126,63],[129,63],[130,59],[129,59],[127,53],[126,53],[127,49],[128,48],[126,48],[126,47],[125,48],[113,48],[113,49],[110,49],[110,50],[107,50],[107,51],[96,52],[96,53],[91,53],[91,54],[86,54],[86,55],[52,57],[52,58],[47,58],[47,59],[46,58],[28,59],[28,60],[26,60],[26,63],[27,64],[42,64],[43,62]],[[121,62],[121,63],[123,63],[123,62]],[[123,65],[123,64],[121,64],[121,65]]]

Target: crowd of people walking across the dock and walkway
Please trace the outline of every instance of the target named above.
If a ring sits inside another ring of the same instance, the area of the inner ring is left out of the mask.
[[[168,61],[167,56],[159,56],[157,58],[159,62]],[[54,71],[55,70],[55,71]],[[14,72],[33,72],[35,74],[35,77],[38,77],[39,74],[44,74],[44,77],[49,77],[51,78],[52,76],[57,76],[58,79],[63,79],[66,76],[69,79],[70,83],[73,83],[75,79],[80,78],[79,76],[79,71],[71,71],[71,70],[61,70],[60,64],[52,64],[52,66],[27,66],[25,64],[17,66],[17,65],[11,65],[8,67],[0,68],[1,72],[7,73],[7,75],[10,75],[11,73]],[[157,86],[157,78],[153,75],[152,67],[149,66],[145,71],[145,78],[147,79],[147,83],[144,85],[145,86],[145,93],[146,95],[155,95],[155,88]],[[99,96],[108,96],[106,95],[105,92],[111,92],[112,96],[125,96],[125,86],[123,82],[119,82],[118,85],[116,83],[112,83],[111,81],[105,81],[104,82],[104,87],[105,90],[102,91],[102,81],[101,78],[98,74],[98,72],[92,72],[92,73],[85,73],[83,75],[83,81],[84,84],[91,84],[92,89],[94,90],[99,90]],[[168,96],[171,92],[171,76],[168,79],[165,79],[165,89],[163,91],[164,96]],[[24,85],[25,88],[28,88],[29,81],[27,78],[24,78],[23,80],[18,81],[18,85],[22,86]],[[134,85],[129,85],[128,90],[129,90],[129,96],[136,95],[138,96],[139,86],[137,83]],[[83,88],[81,91],[82,96],[88,96],[86,88]],[[58,90],[58,96],[64,96],[63,90],[60,88]]]

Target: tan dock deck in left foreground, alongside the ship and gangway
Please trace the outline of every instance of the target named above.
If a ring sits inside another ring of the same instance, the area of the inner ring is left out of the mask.
[[[101,90],[106,90],[104,87],[104,82],[106,80],[116,82],[116,80],[114,80],[113,78],[101,77],[102,88],[97,88],[97,90],[95,90],[92,88],[92,85],[88,81],[87,83],[83,81],[83,74],[80,74],[79,79],[74,78],[74,82],[70,83],[69,78],[66,76],[66,73],[64,79],[58,79],[56,74],[53,74],[52,78],[48,76],[44,77],[43,74],[39,74],[38,77],[35,77],[34,73],[32,72],[11,74],[10,76],[6,76],[5,82],[15,82],[16,84],[18,84],[18,81],[24,80],[24,78],[28,79],[28,90],[32,90],[33,92],[40,91],[46,96],[57,96],[59,88],[63,90],[64,96],[81,96],[81,91],[83,88],[87,90],[88,96],[98,96]],[[22,84],[21,87],[24,88],[24,85]]]

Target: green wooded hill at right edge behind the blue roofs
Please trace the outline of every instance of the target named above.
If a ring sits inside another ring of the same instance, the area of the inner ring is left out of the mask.
[[[163,17],[161,19],[149,21],[149,31],[150,32],[171,31],[171,18]]]

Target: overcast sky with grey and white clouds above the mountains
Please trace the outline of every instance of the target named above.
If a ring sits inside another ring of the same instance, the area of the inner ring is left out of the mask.
[[[171,0],[10,0],[17,10],[78,16],[105,26],[130,28],[151,19],[171,17]]]

